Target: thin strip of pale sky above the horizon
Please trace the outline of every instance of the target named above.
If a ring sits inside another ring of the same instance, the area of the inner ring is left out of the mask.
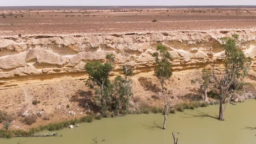
[[[256,5],[256,0],[0,0],[0,6],[220,6]]]

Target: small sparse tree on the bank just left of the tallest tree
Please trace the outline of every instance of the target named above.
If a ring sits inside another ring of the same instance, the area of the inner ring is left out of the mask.
[[[211,84],[211,77],[212,73],[205,68],[198,74],[198,78],[191,80],[192,84],[198,83],[200,85],[200,89],[204,90],[204,101],[208,102],[208,88]]]

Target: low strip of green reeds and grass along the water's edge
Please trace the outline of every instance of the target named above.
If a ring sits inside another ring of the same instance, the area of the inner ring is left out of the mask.
[[[217,104],[217,101],[212,101],[210,104],[211,105]],[[183,102],[183,103],[177,104],[175,106],[176,108],[172,108],[170,110],[170,113],[175,114],[176,111],[183,112],[185,109],[193,110],[194,108],[206,107],[208,105],[209,104],[206,102],[189,102],[189,103]],[[154,113],[154,114],[162,113],[162,108],[144,106],[141,109],[128,111],[128,114],[149,114],[149,113]],[[114,112],[111,112],[108,117],[116,117],[116,115]],[[119,114],[118,116],[124,116],[124,115]],[[100,120],[101,118],[102,118],[102,114],[88,115],[88,116],[84,116],[80,119],[74,119],[74,120],[69,120],[69,121],[64,121],[64,122],[59,122],[59,123],[48,124],[46,126],[39,126],[37,128],[31,128],[30,130],[8,130],[6,128],[6,129],[0,130],[0,138],[34,136],[34,134],[36,134],[37,132],[43,131],[43,130],[49,130],[49,131],[61,130],[63,128],[68,128],[70,125],[76,125],[76,124],[80,124],[82,122],[93,122],[94,120]]]

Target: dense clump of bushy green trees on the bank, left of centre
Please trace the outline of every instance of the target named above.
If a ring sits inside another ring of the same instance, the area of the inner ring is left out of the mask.
[[[89,74],[87,85],[95,90],[96,96],[94,101],[101,108],[103,116],[108,117],[108,110],[116,110],[117,112],[128,109],[129,97],[132,93],[131,76],[133,70],[130,66],[123,66],[124,78],[118,75],[111,82],[109,74],[114,69],[114,54],[107,54],[108,62],[100,64],[99,62],[88,62],[84,66]]]

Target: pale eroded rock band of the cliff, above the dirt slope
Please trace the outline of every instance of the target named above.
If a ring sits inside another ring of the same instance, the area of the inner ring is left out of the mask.
[[[86,62],[105,62],[110,53],[116,57],[116,72],[122,64],[147,72],[154,66],[151,54],[159,43],[174,57],[173,70],[201,68],[221,63],[225,55],[218,38],[232,34],[239,34],[246,56],[254,58],[253,30],[2,37],[0,78],[83,72]]]

